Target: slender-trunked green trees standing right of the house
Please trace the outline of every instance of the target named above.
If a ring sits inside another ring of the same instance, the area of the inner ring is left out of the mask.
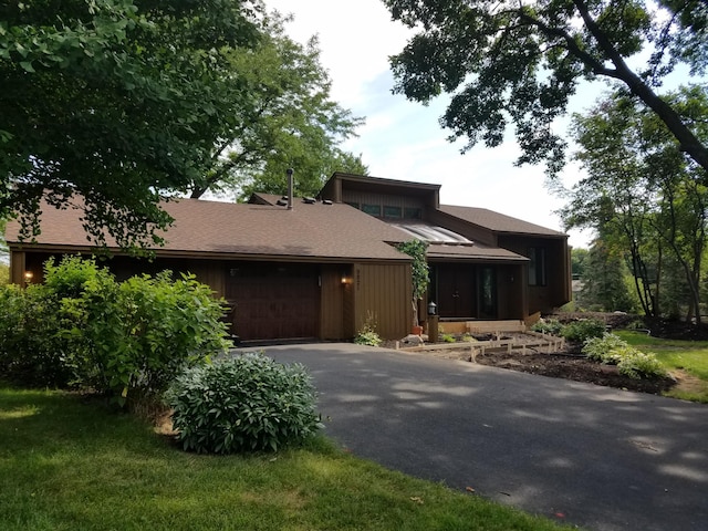
[[[708,91],[690,86],[665,97],[708,142]],[[683,278],[687,313],[699,321],[706,171],[681,155],[656,114],[624,94],[610,94],[586,115],[575,115],[572,132],[587,177],[560,212],[565,225],[593,228],[605,247],[623,250],[647,315],[660,313],[662,278]]]

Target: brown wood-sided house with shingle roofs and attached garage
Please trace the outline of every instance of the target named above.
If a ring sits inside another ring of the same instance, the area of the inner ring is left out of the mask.
[[[410,331],[410,258],[395,244],[428,242],[428,301],[442,322],[528,321],[570,300],[563,233],[490,210],[439,204],[439,185],[336,173],[319,197],[254,194],[248,204],[169,201],[175,218],[152,262],[118,249],[118,278],[189,271],[230,306],[243,340],[347,340],[367,321],[386,339]],[[37,242],[8,223],[11,279],[42,280],[42,263],[90,254],[79,212],[44,208]]]

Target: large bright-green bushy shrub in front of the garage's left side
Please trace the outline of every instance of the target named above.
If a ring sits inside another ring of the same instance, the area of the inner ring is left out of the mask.
[[[223,351],[223,310],[194,275],[134,277],[118,283],[79,257],[44,267],[45,283],[1,293],[0,354],[9,376],[34,385],[73,384],[124,405],[150,399],[185,365]]]

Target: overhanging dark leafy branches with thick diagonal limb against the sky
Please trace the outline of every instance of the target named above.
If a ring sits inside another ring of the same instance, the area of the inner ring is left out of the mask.
[[[650,108],[681,152],[708,170],[708,148],[656,90],[680,63],[708,62],[702,0],[384,0],[417,30],[392,58],[395,91],[451,102],[440,118],[451,139],[498,146],[508,123],[522,148],[518,164],[545,160],[551,176],[565,143],[553,121],[579,82],[604,79]],[[635,65],[639,66],[635,66]]]

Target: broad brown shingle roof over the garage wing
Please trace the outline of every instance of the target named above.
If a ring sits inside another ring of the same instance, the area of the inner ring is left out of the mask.
[[[294,208],[180,199],[165,205],[175,222],[166,232],[165,251],[211,256],[272,258],[409,260],[387,242],[406,241],[399,230],[348,205]],[[38,244],[86,248],[76,209],[44,206]],[[17,242],[18,223],[8,223],[6,239]],[[108,246],[111,243],[108,242]]]

